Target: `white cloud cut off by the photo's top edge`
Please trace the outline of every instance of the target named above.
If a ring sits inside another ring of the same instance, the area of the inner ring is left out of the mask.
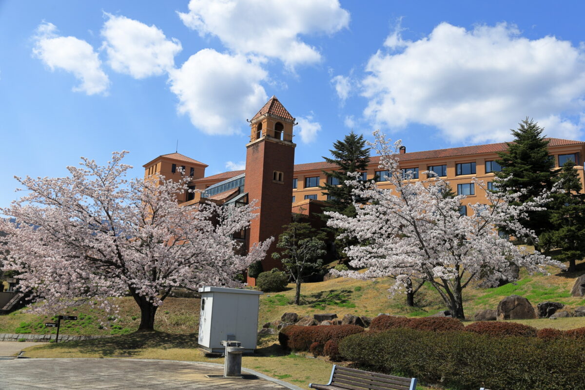
[[[288,67],[321,60],[301,34],[333,34],[347,27],[338,0],[191,0],[179,12],[187,27],[212,34],[236,53],[280,58]]]

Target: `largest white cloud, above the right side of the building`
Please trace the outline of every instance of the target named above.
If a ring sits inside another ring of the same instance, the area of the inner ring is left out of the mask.
[[[579,136],[569,118],[584,109],[582,47],[526,39],[505,23],[472,30],[441,23],[417,41],[397,29],[386,45],[390,53],[370,58],[362,83],[364,115],[376,127],[422,123],[450,141],[498,141],[529,116],[547,123],[549,135]]]

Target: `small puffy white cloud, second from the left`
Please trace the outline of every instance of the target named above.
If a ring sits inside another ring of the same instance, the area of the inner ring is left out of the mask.
[[[174,57],[182,49],[177,39],[167,39],[154,25],[147,26],[125,16],[105,15],[108,20],[101,31],[106,39],[102,47],[113,70],[144,78],[174,68]]]

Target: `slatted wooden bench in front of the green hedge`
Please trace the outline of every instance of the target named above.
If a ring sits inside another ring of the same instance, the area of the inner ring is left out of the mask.
[[[395,377],[394,375],[333,365],[328,384],[309,383],[309,388],[318,390],[415,390],[417,378]]]

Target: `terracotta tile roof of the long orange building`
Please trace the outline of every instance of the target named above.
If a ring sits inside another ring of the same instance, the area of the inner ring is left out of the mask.
[[[573,144],[584,144],[584,141],[573,141],[573,140],[563,140],[559,138],[548,138],[549,146],[565,146],[565,145],[573,145]],[[436,150],[423,150],[423,151],[412,151],[410,153],[399,154],[398,158],[400,161],[412,161],[412,160],[429,160],[431,158],[449,158],[449,157],[456,157],[456,156],[467,156],[469,154],[485,154],[485,153],[497,153],[498,151],[505,151],[507,150],[507,145],[505,142],[500,143],[493,143],[493,144],[484,144],[484,145],[473,145],[473,146],[462,146],[462,147],[452,147],[448,149],[436,149]],[[372,156],[370,158],[370,164],[379,164],[380,163],[380,156]],[[295,164],[294,171],[295,172],[302,172],[302,171],[312,171],[312,170],[328,170],[335,168],[335,164],[329,164],[325,161],[318,161],[317,163],[305,163],[305,164]],[[217,175],[204,177],[201,179],[194,180],[197,181],[206,181],[206,180],[226,180],[237,175],[241,175],[246,171],[231,171],[231,172],[223,172]]]

